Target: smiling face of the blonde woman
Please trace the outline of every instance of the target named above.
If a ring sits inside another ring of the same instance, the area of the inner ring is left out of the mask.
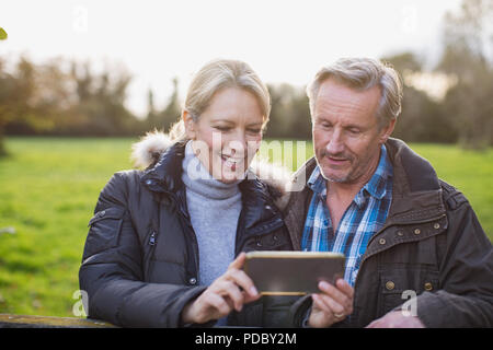
[[[232,183],[244,177],[262,141],[264,116],[255,96],[242,89],[218,91],[195,122],[183,113],[186,133],[214,178]]]

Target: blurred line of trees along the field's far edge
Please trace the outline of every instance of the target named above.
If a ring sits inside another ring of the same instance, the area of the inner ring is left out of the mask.
[[[465,0],[460,11],[447,13],[440,58],[433,69],[425,70],[425,59],[414,52],[382,57],[404,82],[402,114],[393,136],[408,142],[493,144],[491,20],[493,0]],[[436,77],[445,77],[448,84],[439,98],[415,83],[420,78],[433,82]],[[0,58],[0,153],[2,135],[106,137],[168,130],[181,112],[177,79],[161,109],[156,108],[152,91],[148,92],[144,119],[125,106],[130,81],[131,74],[124,69],[95,73],[89,62],[59,58],[34,63],[26,57],[8,62]],[[265,137],[309,139],[305,89],[268,84],[268,90],[272,114]]]

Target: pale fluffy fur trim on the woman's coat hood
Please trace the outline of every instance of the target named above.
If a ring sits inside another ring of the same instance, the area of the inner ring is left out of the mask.
[[[156,164],[161,154],[174,144],[174,141],[163,131],[150,131],[140,141],[131,145],[131,161],[134,167],[147,168]],[[289,201],[291,173],[285,167],[264,160],[254,159],[250,170],[267,186],[277,190],[280,196],[275,200],[276,206],[284,210]]]

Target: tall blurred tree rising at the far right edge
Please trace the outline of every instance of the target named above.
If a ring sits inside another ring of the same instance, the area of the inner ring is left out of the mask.
[[[438,71],[455,74],[444,113],[463,145],[493,144],[493,0],[465,0],[444,22],[444,52]]]

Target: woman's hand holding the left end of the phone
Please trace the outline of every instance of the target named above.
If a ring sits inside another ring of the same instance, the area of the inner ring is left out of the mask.
[[[261,298],[252,280],[242,270],[246,255],[241,253],[228,270],[216,279],[194,302],[182,312],[185,324],[204,324],[227,316],[233,308],[240,312],[243,304]]]

